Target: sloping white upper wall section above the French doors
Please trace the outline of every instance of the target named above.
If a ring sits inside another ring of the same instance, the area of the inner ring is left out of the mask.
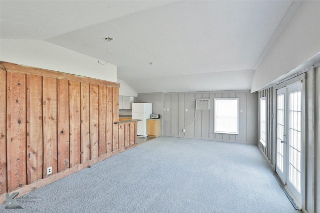
[[[277,79],[320,51],[320,1],[303,1],[259,66],[251,92]],[[297,70],[299,71],[299,70]]]

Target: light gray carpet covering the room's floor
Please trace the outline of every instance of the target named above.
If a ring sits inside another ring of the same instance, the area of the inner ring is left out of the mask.
[[[299,213],[257,146],[159,137],[24,195],[4,213]]]

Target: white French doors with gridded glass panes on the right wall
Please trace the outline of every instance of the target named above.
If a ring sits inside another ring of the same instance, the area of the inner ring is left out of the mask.
[[[301,206],[302,83],[277,90],[276,173]]]

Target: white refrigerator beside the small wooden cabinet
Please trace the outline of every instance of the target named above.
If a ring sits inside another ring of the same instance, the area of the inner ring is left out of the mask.
[[[146,119],[152,114],[151,103],[132,103],[132,119],[139,119],[137,125],[137,136],[147,137],[146,134]]]

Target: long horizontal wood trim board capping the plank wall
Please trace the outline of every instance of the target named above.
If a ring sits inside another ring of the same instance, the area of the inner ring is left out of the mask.
[[[47,69],[21,66],[18,64],[4,62],[4,61],[0,61],[0,63],[6,68],[7,71],[39,75],[43,77],[50,77],[50,78],[56,78],[56,79],[66,79],[66,80],[78,81],[83,83],[103,84],[111,87],[120,87],[120,84],[116,82],[99,80],[95,78],[89,78],[89,77],[78,76],[78,75],[72,75],[64,72],[57,72],[57,71],[52,71]]]

